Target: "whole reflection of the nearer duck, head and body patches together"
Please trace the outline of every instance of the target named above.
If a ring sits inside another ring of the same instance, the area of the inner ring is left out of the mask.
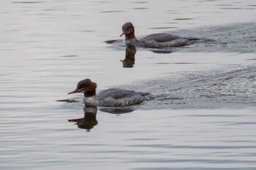
[[[99,109],[101,112],[108,112],[111,114],[123,114],[123,113],[129,113],[133,112],[134,109],[130,108],[101,108]],[[78,128],[86,129],[86,131],[91,131],[91,128],[94,128],[95,125],[98,124],[97,121],[97,107],[83,107],[84,116],[83,118],[79,119],[70,119],[69,122],[74,122],[75,125],[78,125]]]

